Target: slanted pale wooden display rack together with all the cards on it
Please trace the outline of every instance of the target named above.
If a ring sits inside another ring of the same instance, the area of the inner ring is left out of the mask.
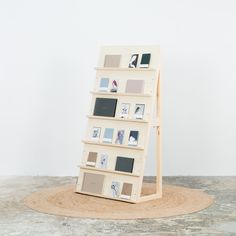
[[[76,192],[130,203],[162,196],[159,46],[102,47]],[[156,191],[142,195],[151,128]]]

